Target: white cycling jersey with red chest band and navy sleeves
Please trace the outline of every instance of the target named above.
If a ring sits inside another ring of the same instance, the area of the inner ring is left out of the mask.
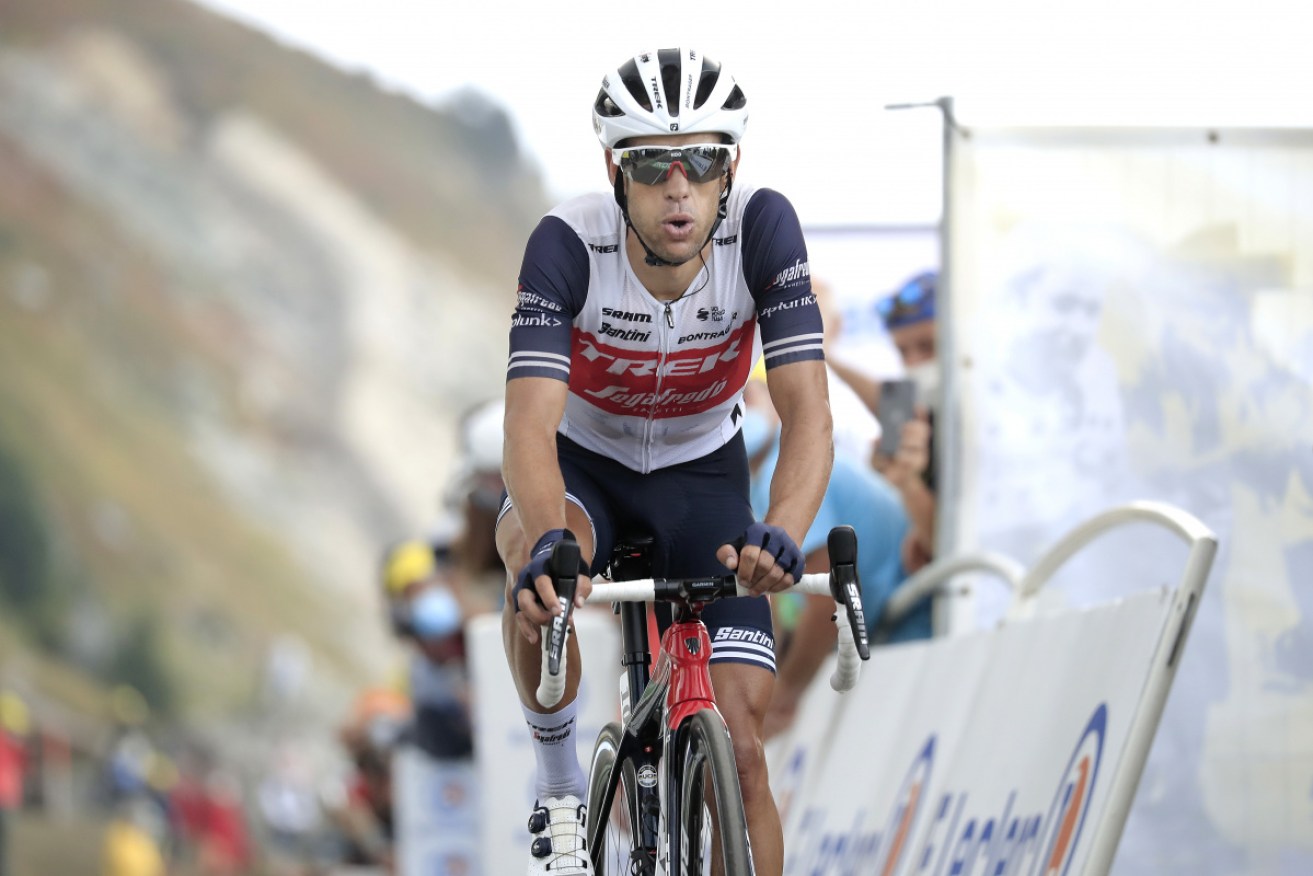
[[[696,460],[739,429],[758,349],[768,369],[823,359],[802,229],[780,193],[734,186],[706,269],[676,301],[647,292],[624,244],[614,200],[587,194],[525,247],[507,380],[569,381],[559,432],[572,441],[641,473]]]

